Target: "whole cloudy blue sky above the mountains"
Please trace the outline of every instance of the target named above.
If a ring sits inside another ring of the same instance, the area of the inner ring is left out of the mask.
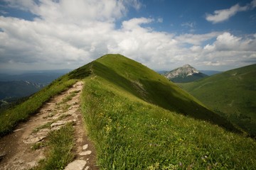
[[[0,73],[121,54],[160,71],[256,63],[256,0],[0,0]]]

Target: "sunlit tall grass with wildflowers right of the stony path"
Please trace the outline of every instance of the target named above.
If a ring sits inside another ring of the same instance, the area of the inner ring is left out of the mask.
[[[101,169],[255,169],[254,140],[85,79],[82,113]]]

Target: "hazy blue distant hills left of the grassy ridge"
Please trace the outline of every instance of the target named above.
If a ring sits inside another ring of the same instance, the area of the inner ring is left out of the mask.
[[[35,70],[22,74],[0,74],[0,108],[18,100],[18,98],[36,93],[43,86],[50,84],[50,82],[69,71],[68,69]]]

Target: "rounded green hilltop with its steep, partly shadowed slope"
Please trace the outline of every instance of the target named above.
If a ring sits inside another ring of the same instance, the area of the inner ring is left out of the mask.
[[[92,62],[93,72],[122,90],[169,111],[234,130],[233,125],[209,111],[196,98],[187,94],[153,70],[122,55],[105,55]]]

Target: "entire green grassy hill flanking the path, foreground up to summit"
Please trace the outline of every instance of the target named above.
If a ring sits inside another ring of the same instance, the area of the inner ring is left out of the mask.
[[[100,169],[255,169],[255,140],[230,132],[237,130],[196,98],[122,55],[105,55],[75,69],[22,109],[26,112],[38,96],[50,98],[78,79],[85,82],[81,111]]]

